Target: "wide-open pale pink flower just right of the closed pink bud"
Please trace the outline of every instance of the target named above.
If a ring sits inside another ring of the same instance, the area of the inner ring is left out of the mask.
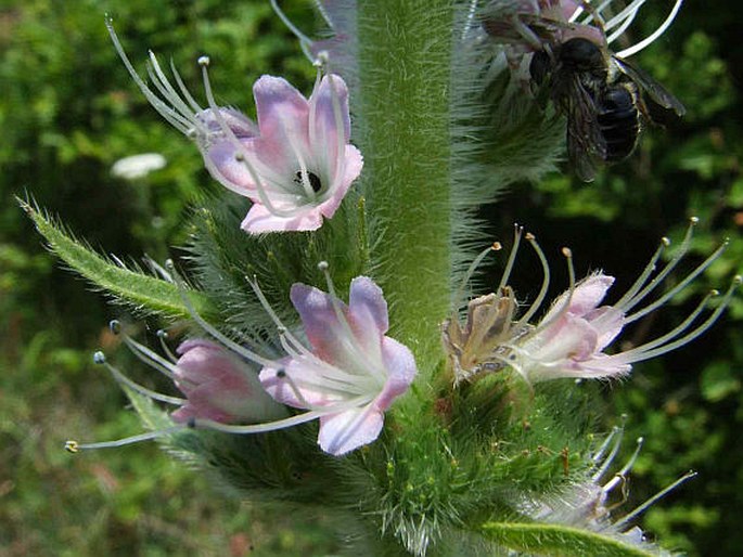
[[[321,412],[320,448],[341,455],[376,439],[384,412],[417,368],[410,350],[387,336],[387,303],[371,278],[350,285],[348,306],[304,284],[292,287],[311,351],[287,348],[280,366],[260,372],[266,390],[294,407]]]

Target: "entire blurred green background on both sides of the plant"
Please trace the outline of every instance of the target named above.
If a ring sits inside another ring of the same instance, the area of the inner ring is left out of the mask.
[[[670,3],[650,2],[633,38],[652,30]],[[312,29],[309,4],[282,2]],[[154,443],[77,457],[62,450],[69,437],[141,430],[120,390],[91,362],[93,350],[116,348],[106,323],[121,310],[44,251],[13,196],[33,196],[105,252],[162,260],[174,254],[168,246],[185,242],[190,207],[216,187],[194,146],[130,81],[104,13],[140,72],[152,49],[172,56],[198,92],[195,60],[209,54],[222,104],[249,113],[251,85],[264,73],[311,87],[311,68],[268,2],[0,0],[0,556],[336,553],[330,518],[230,500]],[[632,331],[632,342],[668,331],[699,296],[723,289],[741,271],[741,21],[739,2],[688,2],[671,30],[638,56],[688,114],[645,133],[630,160],[591,185],[555,174],[483,208],[494,236],[508,239],[514,221],[525,223],[553,260],[569,245],[580,274],[603,268],[617,276],[618,292],[659,236],[678,238],[689,216],[702,219],[696,261],[729,236],[728,254],[694,292]],[[117,159],[148,152],[163,154],[167,167],[133,182],[111,174]],[[536,287],[528,268],[513,283],[520,294]],[[635,437],[646,440],[627,509],[687,470],[700,471],[643,521],[651,536],[689,555],[739,555],[743,547],[742,320],[739,297],[704,339],[605,388],[606,427],[628,415],[624,453]],[[116,358],[137,367],[124,350]]]

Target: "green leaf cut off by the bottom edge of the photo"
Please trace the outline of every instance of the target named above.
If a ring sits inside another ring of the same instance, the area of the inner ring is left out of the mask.
[[[613,537],[560,524],[488,522],[482,527],[490,540],[515,549],[536,555],[602,557],[648,557],[656,555],[652,546],[639,548]]]

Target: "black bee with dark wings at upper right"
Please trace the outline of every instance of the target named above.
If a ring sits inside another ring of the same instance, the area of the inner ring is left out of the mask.
[[[529,73],[566,116],[567,153],[586,182],[600,164],[624,160],[635,151],[642,124],[653,121],[643,92],[678,116],[686,113],[648,74],[587,38],[547,43],[534,53]]]

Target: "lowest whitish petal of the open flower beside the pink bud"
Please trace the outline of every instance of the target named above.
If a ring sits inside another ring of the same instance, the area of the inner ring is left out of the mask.
[[[374,441],[383,425],[384,414],[371,406],[323,416],[318,443],[324,452],[341,456]]]

